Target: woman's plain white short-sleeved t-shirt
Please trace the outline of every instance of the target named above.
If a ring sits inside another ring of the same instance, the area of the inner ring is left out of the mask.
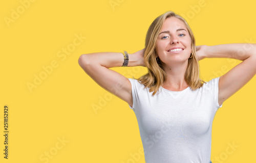
[[[208,163],[211,127],[218,103],[219,78],[192,91],[160,87],[153,96],[138,80],[132,84],[133,107],[146,163]]]

